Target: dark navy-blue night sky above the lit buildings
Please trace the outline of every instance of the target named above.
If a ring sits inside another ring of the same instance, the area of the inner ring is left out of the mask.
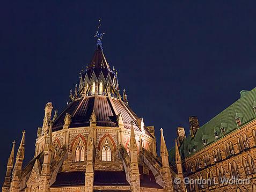
[[[65,107],[96,49],[118,70],[130,107],[164,129],[170,149],[188,117],[206,123],[255,87],[255,1],[2,1],[0,3],[0,181],[12,141],[26,130],[34,155],[45,104]],[[122,94],[122,93],[121,93]],[[16,155],[16,154],[15,154]]]

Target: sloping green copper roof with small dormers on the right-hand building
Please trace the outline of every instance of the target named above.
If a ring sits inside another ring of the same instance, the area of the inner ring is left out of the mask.
[[[185,157],[188,157],[205,147],[202,143],[202,139],[205,138],[207,145],[209,145],[210,143],[213,143],[223,137],[223,135],[220,135],[219,138],[216,139],[214,135],[216,130],[220,131],[220,128],[224,127],[226,132],[225,135],[228,135],[233,130],[238,129],[239,127],[236,123],[236,117],[243,117],[242,126],[243,124],[256,119],[256,114],[253,110],[255,101],[256,87],[254,87],[253,90],[247,92],[247,94],[243,94],[240,99],[238,99],[228,108],[224,109],[221,113],[217,114],[206,124],[202,125],[202,127],[196,131],[196,134],[193,138],[191,138],[190,135],[186,137],[179,147],[181,158],[184,159]],[[191,149],[191,154],[188,154],[189,147],[194,146],[194,144],[196,144],[196,151]],[[174,164],[175,147],[169,150],[169,160],[171,164]]]

